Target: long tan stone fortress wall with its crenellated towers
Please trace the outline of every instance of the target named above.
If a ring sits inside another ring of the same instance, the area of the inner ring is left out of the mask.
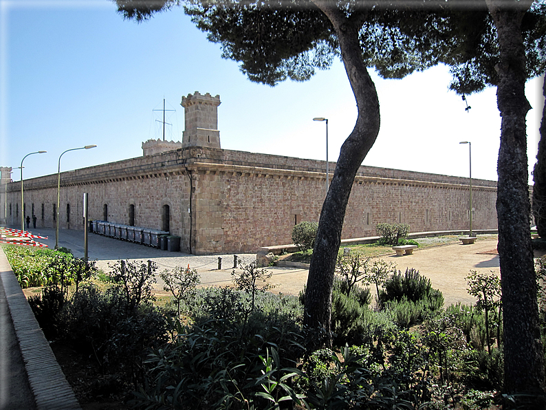
[[[219,96],[197,91],[183,97],[181,148],[150,140],[140,158],[61,173],[60,228],[83,229],[88,193],[89,219],[159,230],[168,224],[171,235],[182,238],[183,252],[255,252],[290,244],[295,223],[318,221],[325,162],[221,149],[219,104]],[[8,182],[11,170],[0,171]],[[53,228],[57,175],[25,180],[24,188],[25,215],[36,215],[37,227]],[[0,219],[18,226],[20,182],[3,184],[0,192]],[[376,235],[379,222],[406,223],[412,232],[468,228],[468,193],[468,178],[361,166],[342,238]],[[496,229],[495,202],[496,182],[472,180],[474,229]]]

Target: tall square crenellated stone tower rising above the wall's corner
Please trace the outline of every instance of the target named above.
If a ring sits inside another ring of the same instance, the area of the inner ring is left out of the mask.
[[[182,133],[182,148],[210,147],[220,148],[218,128],[218,106],[220,96],[202,96],[199,91],[182,97],[185,128]]]

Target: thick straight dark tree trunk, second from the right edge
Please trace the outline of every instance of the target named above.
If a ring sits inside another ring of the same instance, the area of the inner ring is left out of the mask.
[[[529,230],[525,51],[521,20],[532,1],[486,0],[500,46],[497,105],[501,111],[496,211],[504,310],[504,389],[543,393],[544,367]]]

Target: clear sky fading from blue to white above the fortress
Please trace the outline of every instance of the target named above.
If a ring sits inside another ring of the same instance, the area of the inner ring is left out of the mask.
[[[141,24],[124,21],[108,0],[0,0],[0,166],[25,159],[25,179],[142,155],[142,142],[162,138],[157,119],[163,98],[167,140],[181,140],[182,96],[219,94],[221,147],[329,160],[356,121],[355,100],[340,62],[304,83],[251,83],[237,63],[223,60],[182,9]],[[496,89],[468,96],[472,109],[448,91],[450,75],[435,67],[403,80],[373,74],[381,130],[364,165],[496,180],[501,118]],[[544,100],[542,78],[526,87],[529,170],[536,160]],[[19,169],[14,180],[20,179]],[[530,177],[530,176],[529,176]],[[530,177],[532,180],[532,177]]]

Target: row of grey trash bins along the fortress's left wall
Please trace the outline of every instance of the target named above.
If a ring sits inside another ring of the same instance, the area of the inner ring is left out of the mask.
[[[153,246],[153,248],[168,250],[169,252],[178,252],[180,250],[180,237],[169,235],[164,230],[113,224],[107,221],[91,221],[89,222],[89,232],[134,242],[135,244]]]

